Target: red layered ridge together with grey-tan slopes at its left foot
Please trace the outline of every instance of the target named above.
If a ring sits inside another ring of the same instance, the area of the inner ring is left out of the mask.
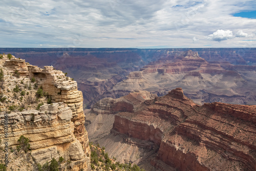
[[[109,133],[97,134],[106,125],[97,125],[97,135],[89,133],[111,156],[146,170],[256,169],[256,105],[198,105],[176,88],[121,109],[118,104],[135,94],[102,99],[91,111],[114,122]]]

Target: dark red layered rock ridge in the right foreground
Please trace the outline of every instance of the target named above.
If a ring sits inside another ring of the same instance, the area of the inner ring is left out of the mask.
[[[116,115],[113,130],[159,146],[151,161],[155,167],[256,169],[256,105],[215,102],[200,106],[180,88],[144,104],[137,112]]]

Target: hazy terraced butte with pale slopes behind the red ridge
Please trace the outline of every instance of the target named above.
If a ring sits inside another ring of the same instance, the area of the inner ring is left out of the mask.
[[[181,87],[198,104],[256,104],[256,66],[212,60],[206,61],[191,50],[176,52],[131,72],[109,94],[121,95],[137,89],[162,96],[170,89]]]

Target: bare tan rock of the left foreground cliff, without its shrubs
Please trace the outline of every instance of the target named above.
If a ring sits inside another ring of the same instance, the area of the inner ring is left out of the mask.
[[[66,162],[71,161],[63,164],[62,169],[90,170],[90,148],[84,126],[83,97],[82,93],[77,90],[76,81],[66,77],[61,71],[54,70],[53,67],[41,69],[29,65],[23,59],[15,57],[8,59],[6,55],[0,60],[0,65],[4,71],[2,94],[13,91],[8,88],[9,84],[13,82],[7,78],[13,77],[20,91],[24,92],[28,91],[24,84],[27,84],[31,78],[35,78],[34,84],[38,88],[42,88],[47,93],[48,99],[53,102],[40,106],[38,111],[30,107],[30,110],[21,109],[20,112],[15,110],[9,112],[9,147],[15,148],[18,145],[19,137],[24,135],[30,140],[31,155],[35,158],[36,163],[44,164],[51,161],[52,158],[58,159],[61,156]],[[15,73],[19,73],[17,78],[15,78]],[[36,90],[30,90],[28,94],[32,94],[33,91]],[[8,98],[13,100],[16,105],[25,101],[26,109],[26,106],[30,105],[30,103],[26,103],[26,100],[32,97],[27,95],[23,97],[25,99]],[[8,101],[1,102],[2,111],[7,110],[7,105],[9,105]],[[5,113],[1,112],[1,139],[4,138]]]

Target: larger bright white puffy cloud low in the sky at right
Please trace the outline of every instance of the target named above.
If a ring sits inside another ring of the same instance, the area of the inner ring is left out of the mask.
[[[207,39],[214,41],[222,41],[234,38],[233,32],[230,30],[217,30],[216,32],[208,35]]]

